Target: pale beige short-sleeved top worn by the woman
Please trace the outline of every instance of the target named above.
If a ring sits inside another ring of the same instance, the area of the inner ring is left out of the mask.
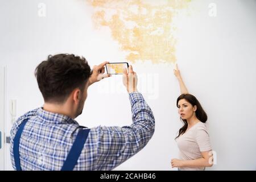
[[[207,124],[198,122],[190,129],[188,129],[183,135],[177,138],[177,146],[179,147],[179,159],[181,160],[193,160],[202,158],[201,152],[212,150],[210,145],[209,133]],[[194,170],[203,171],[204,167],[191,168],[180,167],[181,171]]]

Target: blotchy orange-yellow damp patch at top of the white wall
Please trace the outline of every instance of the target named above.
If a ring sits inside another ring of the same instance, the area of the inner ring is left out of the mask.
[[[174,16],[188,7],[190,0],[86,0],[93,6],[96,28],[110,28],[126,59],[175,63]]]

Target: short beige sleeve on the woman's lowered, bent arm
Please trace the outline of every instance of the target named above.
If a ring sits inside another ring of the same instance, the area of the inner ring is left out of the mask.
[[[210,145],[210,137],[206,126],[200,126],[196,130],[196,142],[199,146],[200,152],[212,150]]]

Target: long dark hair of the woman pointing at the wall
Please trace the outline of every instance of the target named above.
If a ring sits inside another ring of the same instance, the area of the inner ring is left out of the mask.
[[[185,99],[187,102],[189,102],[192,106],[197,106],[197,109],[196,109],[196,117],[197,119],[199,119],[201,122],[205,123],[207,122],[207,113],[205,113],[203,107],[201,106],[201,104],[199,103],[199,101],[196,99],[195,96],[191,95],[191,94],[181,94],[178,98],[177,98],[177,102],[176,102],[176,106],[178,106],[178,102],[181,100],[181,99]],[[187,119],[182,119],[180,118],[183,122],[184,122],[184,125],[183,127],[180,128],[179,130],[179,135],[176,137],[180,137],[180,135],[184,134],[185,131],[187,130],[188,128],[188,122],[187,122]],[[175,139],[176,139],[175,138]]]

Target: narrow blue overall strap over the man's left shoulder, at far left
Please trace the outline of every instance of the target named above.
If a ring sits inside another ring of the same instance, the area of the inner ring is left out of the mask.
[[[15,167],[16,167],[17,171],[22,171],[22,169],[20,167],[20,158],[19,158],[19,140],[20,140],[20,136],[22,134],[22,131],[23,131],[26,123],[27,123],[27,120],[24,120],[20,124],[19,129],[16,132],[16,135],[15,135],[14,141],[13,141],[13,155],[14,155],[14,162],[15,162]]]

